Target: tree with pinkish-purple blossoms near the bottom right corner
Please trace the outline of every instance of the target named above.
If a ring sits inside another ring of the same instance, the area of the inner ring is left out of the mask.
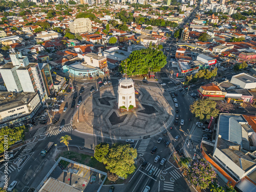
[[[196,187],[206,189],[216,180],[216,172],[205,159],[194,160],[188,167],[187,180]]]

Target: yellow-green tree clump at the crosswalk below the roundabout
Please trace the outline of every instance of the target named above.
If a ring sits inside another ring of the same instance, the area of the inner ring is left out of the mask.
[[[95,147],[94,157],[106,164],[106,169],[110,173],[126,179],[128,174],[135,171],[134,159],[137,157],[137,150],[129,144],[115,143],[111,148],[106,143],[98,145]]]

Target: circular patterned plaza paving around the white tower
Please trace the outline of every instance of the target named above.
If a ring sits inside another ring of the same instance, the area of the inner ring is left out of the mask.
[[[119,139],[147,138],[165,130],[175,114],[169,94],[156,87],[135,86],[135,89],[139,92],[136,108],[129,112],[117,108],[117,86],[93,93],[75,113],[74,129]]]

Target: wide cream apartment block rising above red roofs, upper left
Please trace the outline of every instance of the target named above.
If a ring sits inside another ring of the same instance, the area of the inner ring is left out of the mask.
[[[92,24],[89,18],[77,18],[69,21],[69,29],[71,33],[92,32]]]

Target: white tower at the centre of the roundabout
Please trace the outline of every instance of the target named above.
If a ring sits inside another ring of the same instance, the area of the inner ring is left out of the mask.
[[[128,111],[130,105],[133,105],[134,107],[136,107],[133,79],[131,78],[119,79],[117,93],[118,93],[118,96],[117,96],[118,109],[122,106],[125,106],[125,108]]]

